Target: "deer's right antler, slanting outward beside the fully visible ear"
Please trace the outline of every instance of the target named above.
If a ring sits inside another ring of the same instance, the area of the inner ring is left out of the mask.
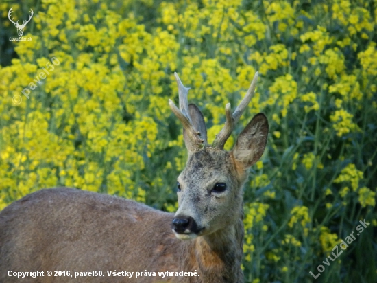
[[[232,131],[236,123],[239,121],[243,111],[245,111],[247,104],[249,104],[252,96],[254,95],[254,91],[256,88],[256,81],[258,80],[258,72],[255,73],[252,84],[250,85],[245,98],[241,101],[239,106],[232,114],[232,109],[230,108],[230,103],[226,104],[225,106],[225,113],[226,113],[226,122],[223,126],[222,130],[218,135],[216,135],[215,141],[213,141],[212,147],[223,149],[227,139],[232,135]]]

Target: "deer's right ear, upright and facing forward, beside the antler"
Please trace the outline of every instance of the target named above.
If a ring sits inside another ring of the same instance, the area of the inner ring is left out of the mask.
[[[267,117],[263,113],[256,114],[239,135],[232,153],[234,159],[249,168],[265,151],[269,131]]]

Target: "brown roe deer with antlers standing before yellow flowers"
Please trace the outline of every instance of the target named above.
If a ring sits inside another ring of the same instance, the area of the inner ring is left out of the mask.
[[[223,146],[250,102],[258,73],[234,113],[226,104],[225,126],[212,145],[201,111],[187,102],[189,88],[176,73],[175,78],[180,109],[171,100],[169,105],[183,124],[189,151],[178,177],[178,211],[160,212],[71,188],[39,190],[0,213],[0,282],[243,282],[242,188],[248,168],[265,150],[265,115],[252,118],[232,151]],[[36,278],[14,276],[27,271],[44,273]],[[69,271],[73,278],[75,272],[102,275],[73,280],[62,273],[47,276],[47,271]]]

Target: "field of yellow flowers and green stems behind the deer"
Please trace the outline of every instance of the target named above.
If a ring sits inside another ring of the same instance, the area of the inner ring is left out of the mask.
[[[175,211],[187,156],[173,72],[210,143],[259,71],[226,144],[267,115],[245,282],[377,282],[376,0],[22,3],[0,3],[0,210],[66,185]],[[20,21],[34,10],[32,41],[10,42],[11,7]]]

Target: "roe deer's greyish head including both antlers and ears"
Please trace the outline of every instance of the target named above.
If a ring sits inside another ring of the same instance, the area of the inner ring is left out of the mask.
[[[183,124],[183,135],[189,159],[178,177],[178,211],[172,229],[177,238],[189,240],[206,236],[221,229],[229,229],[243,213],[243,183],[248,168],[262,156],[267,143],[268,122],[258,113],[239,135],[234,148],[223,150],[226,140],[249,104],[256,88],[258,73],[245,98],[234,113],[226,104],[226,123],[208,145],[206,124],[195,104],[188,104],[189,88],[184,87],[178,74],[180,109],[169,100],[173,113]]]

